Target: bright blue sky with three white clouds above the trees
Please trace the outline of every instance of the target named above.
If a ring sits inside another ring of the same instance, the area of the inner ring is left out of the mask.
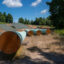
[[[35,20],[36,17],[46,18],[50,15],[46,2],[51,0],[0,0],[0,12],[10,13],[13,21],[20,17]]]

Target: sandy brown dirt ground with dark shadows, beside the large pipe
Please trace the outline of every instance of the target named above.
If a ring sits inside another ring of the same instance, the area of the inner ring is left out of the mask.
[[[56,35],[26,37],[24,58],[0,61],[0,64],[64,64],[64,38]]]

